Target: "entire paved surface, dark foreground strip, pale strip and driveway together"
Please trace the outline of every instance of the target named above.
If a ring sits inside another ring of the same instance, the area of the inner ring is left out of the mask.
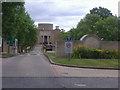
[[[30,53],[2,59],[2,87],[118,88],[118,71],[101,70],[102,76],[95,73],[98,70],[90,70],[79,69],[83,73],[79,74],[78,69],[51,65],[36,46]]]

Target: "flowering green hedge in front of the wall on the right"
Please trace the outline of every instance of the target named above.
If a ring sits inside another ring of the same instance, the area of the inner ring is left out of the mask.
[[[95,59],[118,59],[118,51],[116,50],[99,50],[90,49],[83,45],[77,45],[71,54],[73,58],[95,58]]]

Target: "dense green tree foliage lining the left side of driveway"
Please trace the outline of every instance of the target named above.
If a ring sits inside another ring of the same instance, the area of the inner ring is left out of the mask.
[[[24,2],[3,2],[2,6],[2,38],[17,38],[19,46],[32,47],[37,41],[37,29],[25,11]]]

